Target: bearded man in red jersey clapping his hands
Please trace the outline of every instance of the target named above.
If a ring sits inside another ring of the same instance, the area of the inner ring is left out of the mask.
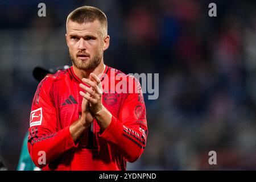
[[[126,162],[137,160],[146,146],[141,85],[104,64],[110,37],[101,10],[79,7],[68,15],[66,26],[73,66],[38,85],[28,151],[43,170],[125,170]],[[119,92],[126,86],[133,92]]]

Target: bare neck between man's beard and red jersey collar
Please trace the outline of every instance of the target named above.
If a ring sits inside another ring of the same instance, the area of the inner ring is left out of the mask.
[[[73,66],[73,71],[77,77],[82,80],[82,78],[88,78],[90,77],[90,73],[94,73],[95,75],[100,75],[100,73],[103,73],[105,70],[106,65],[101,61],[101,63],[94,69],[79,69]]]

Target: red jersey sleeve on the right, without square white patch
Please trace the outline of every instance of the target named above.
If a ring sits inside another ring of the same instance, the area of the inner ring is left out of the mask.
[[[141,85],[135,82],[138,92],[129,93],[118,117],[112,115],[108,128],[99,136],[106,139],[128,162],[135,162],[146,146],[146,107]]]

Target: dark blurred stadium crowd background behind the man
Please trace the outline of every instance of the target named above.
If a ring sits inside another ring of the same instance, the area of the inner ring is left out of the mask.
[[[46,17],[38,3],[46,3]],[[217,5],[217,17],[208,5]],[[193,0],[0,2],[0,161],[18,164],[38,82],[36,66],[71,64],[65,20],[92,5],[108,16],[105,63],[159,73],[146,100],[149,135],[130,170],[256,169],[256,2]],[[217,152],[217,165],[208,152]]]

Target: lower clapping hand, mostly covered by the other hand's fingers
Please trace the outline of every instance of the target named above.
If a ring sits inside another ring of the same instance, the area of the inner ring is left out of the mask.
[[[86,93],[86,94],[89,96],[88,93]],[[89,102],[85,98],[82,98],[81,107],[82,107],[82,114],[81,114],[82,123],[86,127],[88,127],[93,122],[93,116],[92,116],[92,113],[90,113],[90,110],[89,110]]]

